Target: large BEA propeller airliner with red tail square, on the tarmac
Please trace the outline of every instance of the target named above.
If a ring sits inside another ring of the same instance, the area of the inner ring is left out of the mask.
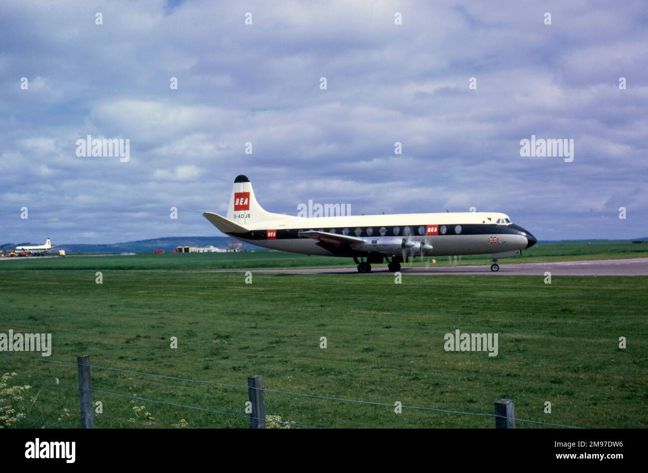
[[[400,270],[410,258],[457,255],[518,256],[537,243],[529,231],[495,212],[445,212],[353,215],[305,218],[265,211],[257,202],[247,176],[237,176],[227,216],[203,216],[222,233],[264,248],[353,258],[359,273],[371,264],[388,263]]]

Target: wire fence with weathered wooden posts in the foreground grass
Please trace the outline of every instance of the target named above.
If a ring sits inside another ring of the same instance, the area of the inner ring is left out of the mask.
[[[238,417],[241,419],[249,419],[249,426],[250,428],[266,428],[268,423],[273,423],[273,424],[285,424],[286,426],[296,426],[296,427],[304,427],[304,428],[325,428],[322,426],[313,426],[313,425],[308,425],[308,424],[300,424],[297,422],[293,421],[279,421],[277,419],[272,419],[268,420],[266,417],[266,406],[265,406],[265,393],[277,393],[277,394],[282,394],[282,395],[291,395],[291,396],[299,396],[299,397],[305,397],[305,398],[314,398],[314,399],[326,399],[326,400],[332,400],[336,402],[349,402],[349,403],[356,403],[356,404],[366,404],[366,405],[371,405],[371,406],[380,406],[380,407],[389,407],[389,408],[395,408],[395,404],[389,404],[386,402],[374,402],[374,401],[365,401],[365,400],[355,400],[355,399],[347,399],[347,398],[338,398],[338,397],[329,397],[329,396],[322,396],[322,395],[314,395],[314,394],[307,394],[307,393],[298,393],[295,391],[281,391],[278,389],[268,389],[264,387],[263,384],[263,376],[260,375],[255,375],[255,376],[249,376],[248,378],[248,385],[242,385],[242,384],[229,384],[229,383],[221,383],[221,382],[215,382],[215,381],[209,381],[209,380],[195,380],[192,378],[182,378],[179,376],[168,376],[168,375],[157,375],[154,373],[145,373],[142,371],[133,371],[129,369],[122,369],[122,368],[115,368],[115,367],[106,367],[106,366],[99,366],[99,365],[92,365],[90,363],[90,357],[88,355],[83,355],[83,356],[78,356],[76,363],[75,362],[67,362],[67,361],[62,361],[62,360],[47,360],[45,358],[28,358],[25,356],[15,356],[15,355],[8,355],[4,353],[0,353],[0,356],[8,356],[10,358],[16,358],[20,360],[29,360],[29,361],[34,361],[34,362],[48,362],[48,363],[62,363],[62,364],[67,364],[67,365],[76,365],[77,371],[78,371],[78,385],[71,385],[71,384],[61,384],[60,382],[57,383],[52,383],[52,382],[47,382],[47,381],[41,381],[41,380],[34,380],[32,378],[17,378],[20,380],[25,380],[29,382],[35,382],[35,383],[40,383],[43,385],[53,385],[53,386],[62,386],[62,387],[70,387],[70,388],[78,388],[79,391],[79,405],[80,408],[76,410],[76,408],[67,408],[65,406],[58,406],[56,404],[48,404],[45,402],[40,402],[34,400],[36,404],[40,404],[42,406],[50,406],[52,408],[60,408],[60,409],[66,409],[68,411],[78,411],[80,415],[80,425],[82,428],[95,428],[95,417],[104,417],[106,419],[113,419],[115,421],[120,421],[120,422],[128,422],[131,424],[138,424],[141,426],[146,426],[146,427],[152,427],[156,428],[157,426],[152,425],[150,423],[146,422],[138,422],[134,421],[133,419],[124,419],[121,417],[114,417],[111,415],[107,415],[104,413],[97,413],[95,410],[95,406],[93,404],[93,393],[102,393],[106,395],[113,395],[117,397],[123,397],[123,398],[130,398],[132,400],[141,400],[145,402],[153,402],[156,404],[164,404],[167,406],[174,406],[177,408],[183,408],[183,409],[189,409],[189,410],[197,410],[197,411],[203,411],[207,413],[215,413],[218,415],[230,415],[234,417]],[[191,406],[187,404],[180,404],[178,402],[168,402],[168,401],[163,401],[163,400],[156,400],[156,399],[150,399],[150,398],[145,398],[145,397],[138,397],[138,396],[132,396],[124,393],[116,393],[113,391],[106,391],[102,389],[95,389],[92,386],[92,377],[91,377],[91,369],[99,369],[99,370],[106,370],[106,371],[117,371],[117,372],[122,372],[122,373],[129,373],[132,375],[141,375],[141,376],[152,376],[155,378],[162,378],[162,379],[169,379],[169,380],[178,380],[178,381],[183,381],[183,382],[191,382],[191,383],[200,383],[200,384],[211,384],[214,386],[220,386],[220,387],[232,387],[235,389],[247,389],[248,390],[248,402],[246,403],[246,413],[247,414],[241,414],[241,413],[235,413],[235,412],[228,412],[228,411],[219,411],[219,410],[214,410],[210,408],[203,408],[201,406]],[[555,427],[564,427],[564,428],[581,428],[577,426],[570,426],[570,425],[565,425],[565,424],[552,424],[550,422],[541,422],[541,421],[533,421],[529,419],[519,419],[515,417],[515,403],[511,399],[499,399],[494,402],[494,413],[476,413],[476,412],[469,412],[469,411],[459,411],[459,410],[448,410],[448,409],[440,409],[440,408],[430,408],[430,407],[421,407],[421,406],[399,406],[401,409],[408,409],[408,410],[422,410],[422,411],[435,411],[435,412],[443,412],[443,413],[452,413],[452,414],[457,414],[457,415],[474,415],[474,416],[481,416],[481,417],[493,417],[494,418],[494,423],[495,423],[495,428],[497,429],[511,429],[511,428],[516,428],[516,421],[517,422],[529,422],[533,424],[542,424],[545,426],[555,426]],[[31,421],[35,421],[34,419],[27,419]],[[49,426],[49,427],[60,427],[56,426],[55,424],[48,424],[45,423],[44,421],[41,422],[41,425],[44,426]]]

